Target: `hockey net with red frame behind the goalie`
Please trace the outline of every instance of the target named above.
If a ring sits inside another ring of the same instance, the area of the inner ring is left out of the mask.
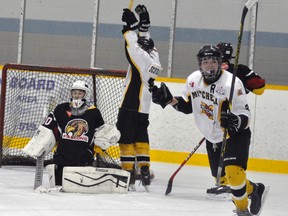
[[[70,99],[69,87],[78,79],[90,86],[90,102],[101,111],[104,121],[115,124],[125,75],[118,70],[6,64],[2,69],[0,165],[35,165],[35,158],[22,149],[48,113]],[[96,166],[120,166],[118,145],[106,152],[95,150]],[[53,152],[45,156],[45,163],[52,158]]]

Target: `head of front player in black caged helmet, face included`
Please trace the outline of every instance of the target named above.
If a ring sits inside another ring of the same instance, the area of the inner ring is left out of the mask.
[[[222,54],[213,45],[202,47],[198,54],[198,65],[205,83],[208,85],[216,82],[221,75]]]

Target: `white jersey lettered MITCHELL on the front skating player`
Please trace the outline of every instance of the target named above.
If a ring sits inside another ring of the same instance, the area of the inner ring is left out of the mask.
[[[220,78],[207,85],[201,72],[193,72],[186,80],[182,97],[187,102],[191,95],[195,122],[202,135],[212,143],[223,140],[223,128],[220,126],[220,113],[223,101],[229,99],[233,75],[222,70]],[[250,111],[244,86],[236,77],[231,112],[245,115],[250,119]]]

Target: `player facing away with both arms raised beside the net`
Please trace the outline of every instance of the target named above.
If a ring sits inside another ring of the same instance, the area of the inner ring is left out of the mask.
[[[136,190],[134,164],[140,168],[142,185],[148,190],[150,185],[150,146],[148,136],[151,87],[162,70],[159,55],[150,38],[150,18],[147,8],[138,5],[134,13],[123,9],[123,36],[125,53],[129,67],[120,103],[117,128],[121,132],[119,140],[121,166],[131,172],[129,190]],[[136,30],[138,29],[138,35]]]

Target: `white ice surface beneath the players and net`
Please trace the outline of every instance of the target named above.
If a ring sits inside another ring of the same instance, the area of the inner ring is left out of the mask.
[[[152,162],[155,179],[150,192],[137,184],[127,194],[38,193],[33,190],[34,167],[0,168],[0,216],[230,216],[231,201],[206,198],[213,186],[208,167],[184,166],[165,196],[170,176],[179,165]],[[255,182],[270,185],[261,216],[287,216],[288,175],[247,172]],[[43,185],[48,186],[46,172]]]

